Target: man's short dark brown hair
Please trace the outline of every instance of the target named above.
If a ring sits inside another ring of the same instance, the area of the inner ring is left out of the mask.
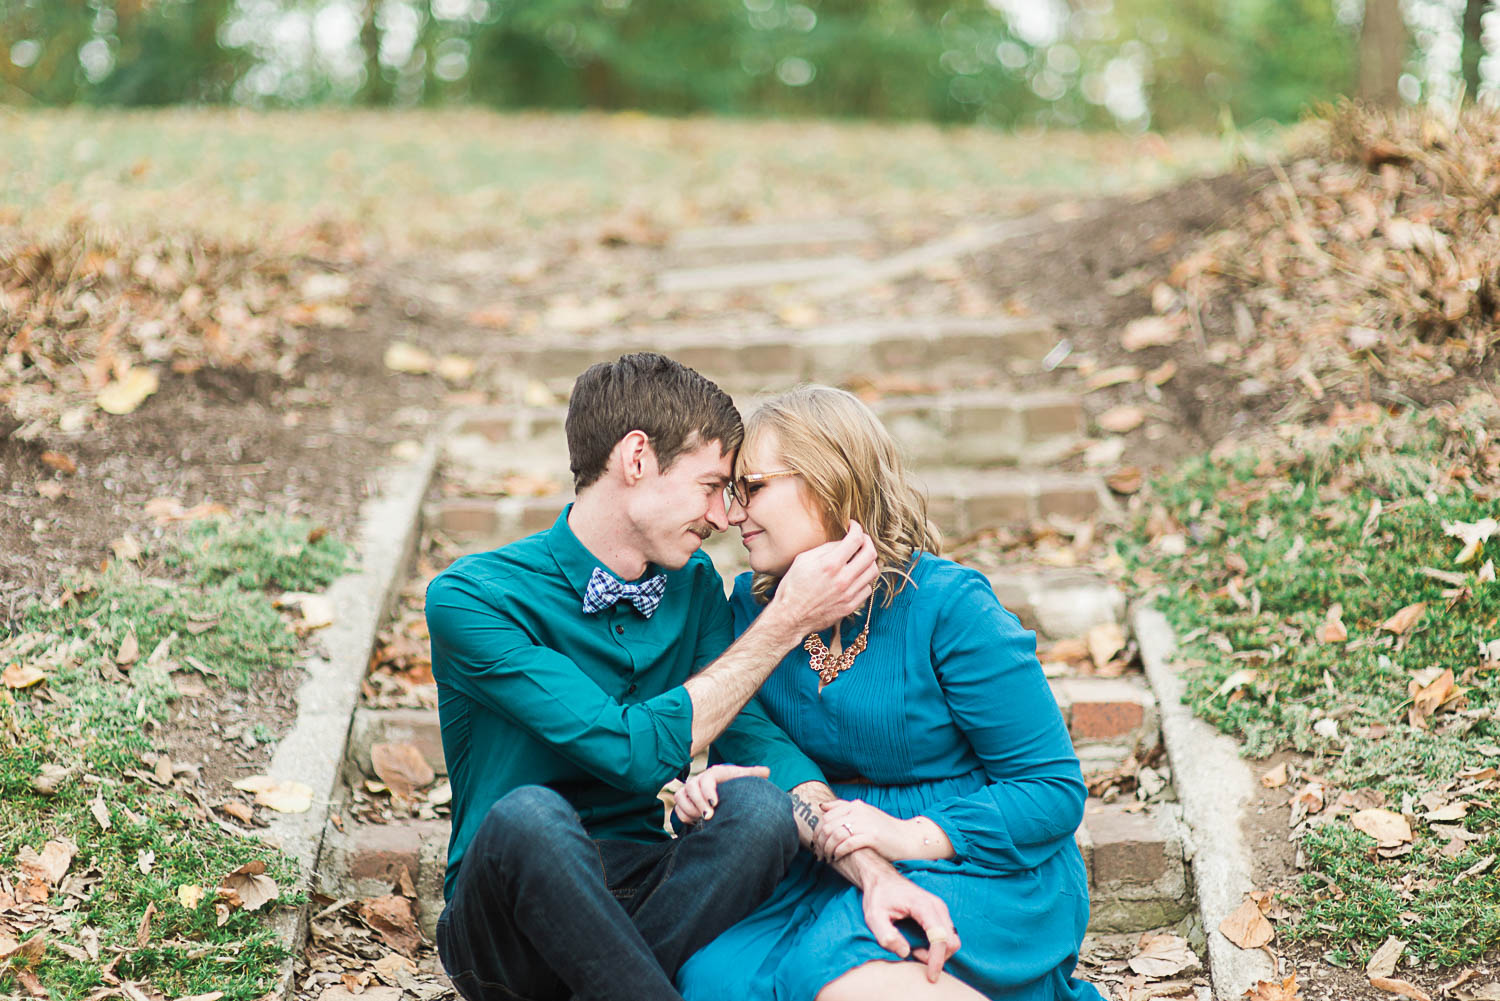
[[[729,395],[664,354],[642,351],[590,366],[567,404],[573,489],[604,474],[609,453],[632,431],[645,432],[664,473],[684,452],[717,441],[728,455],[744,425]]]

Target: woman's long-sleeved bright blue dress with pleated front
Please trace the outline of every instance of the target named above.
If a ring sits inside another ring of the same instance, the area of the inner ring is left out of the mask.
[[[1036,638],[976,570],[921,554],[910,578],[890,608],[876,602],[868,648],[822,693],[798,647],[758,698],[840,797],[924,815],[948,834],[952,858],[897,863],[948,905],[963,944],[948,972],[990,998],[1098,1001],[1072,977],[1089,920],[1072,839],[1088,789]],[[762,608],[748,573],[730,605],[738,635]],[[846,641],[862,618],[844,623]],[[891,959],[860,891],[802,851],[770,900],[687,962],[678,987],[687,1001],[813,1001],[855,966]]]

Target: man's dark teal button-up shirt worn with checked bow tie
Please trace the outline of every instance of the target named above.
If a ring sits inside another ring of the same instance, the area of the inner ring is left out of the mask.
[[[522,785],[561,792],[592,837],[668,837],[657,792],[692,761],[682,683],[734,639],[723,582],[704,552],[666,570],[651,618],[630,602],[585,614],[584,590],[603,563],[568,528],[570,510],[549,531],[462,557],[428,585],[453,785],[447,896],[490,806]],[[770,765],[783,789],[824,779],[758,701],[714,756]]]

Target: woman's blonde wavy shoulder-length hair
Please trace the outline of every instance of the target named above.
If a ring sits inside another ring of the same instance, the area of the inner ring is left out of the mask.
[[[796,470],[822,510],[830,539],[843,539],[858,521],[874,540],[882,606],[906,587],[915,552],[940,555],[942,536],[927,516],[927,495],[906,476],[902,450],[880,419],[854,393],[831,386],[798,386],[768,399],[746,419],[746,453],[766,434],[776,435],[786,468]],[[762,602],[778,578],[756,573],[752,593]]]

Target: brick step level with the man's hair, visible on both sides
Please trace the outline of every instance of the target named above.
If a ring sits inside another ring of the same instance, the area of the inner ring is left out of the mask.
[[[735,401],[750,413],[760,398]],[[886,396],[872,404],[915,468],[1047,465],[1078,447],[1086,429],[1076,393],[956,390]],[[460,419],[444,459],[465,473],[525,471],[568,480],[567,407],[486,407]]]

